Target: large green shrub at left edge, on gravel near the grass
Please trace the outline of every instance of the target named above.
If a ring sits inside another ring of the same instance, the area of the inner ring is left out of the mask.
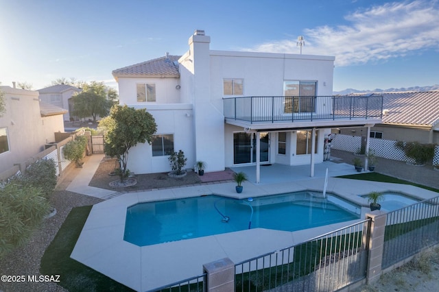
[[[0,258],[23,245],[49,210],[41,188],[15,182],[0,188]]]

